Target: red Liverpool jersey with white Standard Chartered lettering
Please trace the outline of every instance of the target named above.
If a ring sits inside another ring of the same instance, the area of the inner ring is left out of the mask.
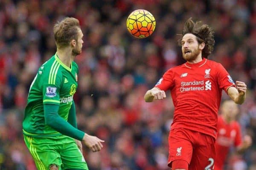
[[[171,91],[175,106],[171,128],[186,128],[217,137],[221,91],[235,86],[226,69],[215,61],[203,59],[169,69],[156,87]]]

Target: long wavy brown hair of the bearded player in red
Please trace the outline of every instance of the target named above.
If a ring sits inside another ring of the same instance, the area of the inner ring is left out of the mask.
[[[204,49],[202,51],[202,57],[208,58],[208,55],[210,55],[213,51],[214,47],[214,31],[211,27],[209,27],[207,24],[202,24],[201,21],[197,21],[196,23],[192,20],[192,18],[189,18],[184,26],[182,37],[185,34],[191,33],[197,37],[198,43],[205,43]],[[180,38],[178,40],[178,45],[181,46],[181,40]]]

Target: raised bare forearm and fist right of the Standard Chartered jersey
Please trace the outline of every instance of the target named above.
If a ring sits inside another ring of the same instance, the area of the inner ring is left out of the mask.
[[[243,104],[246,96],[247,86],[242,81],[236,81],[236,87],[230,87],[227,94],[236,104]]]

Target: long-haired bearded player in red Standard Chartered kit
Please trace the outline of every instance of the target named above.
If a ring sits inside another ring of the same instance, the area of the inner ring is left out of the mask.
[[[169,134],[169,167],[212,170],[222,90],[242,104],[247,87],[241,81],[235,84],[220,63],[207,59],[214,46],[214,32],[208,25],[189,18],[178,42],[186,63],[167,70],[144,99],[162,100],[167,90],[171,92],[175,111]]]

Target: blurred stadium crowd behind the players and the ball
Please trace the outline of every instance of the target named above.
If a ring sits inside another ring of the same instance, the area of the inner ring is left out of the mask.
[[[156,18],[148,38],[126,30],[135,9]],[[248,85],[238,121],[253,146],[230,155],[225,169],[256,170],[255,0],[0,0],[0,170],[36,169],[23,142],[23,112],[38,67],[55,54],[52,27],[65,16],[79,19],[84,33],[76,58],[78,126],[105,140],[99,153],[84,147],[90,170],[168,169],[172,99],[145,103],[143,97],[167,69],[184,63],[177,34],[189,17],[215,30],[209,58]]]

